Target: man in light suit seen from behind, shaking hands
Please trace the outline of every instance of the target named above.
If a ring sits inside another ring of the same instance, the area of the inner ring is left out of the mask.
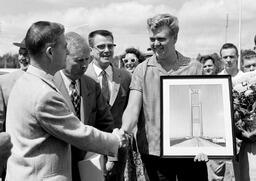
[[[60,24],[33,23],[25,42],[31,65],[17,80],[8,100],[6,131],[13,149],[6,180],[71,181],[70,144],[87,151],[116,155],[126,140],[84,125],[53,83],[68,54]]]

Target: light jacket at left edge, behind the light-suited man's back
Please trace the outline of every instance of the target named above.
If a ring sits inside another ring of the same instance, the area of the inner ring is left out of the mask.
[[[6,109],[8,98],[16,80],[24,73],[23,70],[1,75],[0,76],[0,132],[4,131],[4,124],[6,120]]]

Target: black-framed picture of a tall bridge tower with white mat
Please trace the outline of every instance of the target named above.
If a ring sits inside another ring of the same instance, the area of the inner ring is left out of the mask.
[[[231,77],[161,76],[161,156],[231,158]]]

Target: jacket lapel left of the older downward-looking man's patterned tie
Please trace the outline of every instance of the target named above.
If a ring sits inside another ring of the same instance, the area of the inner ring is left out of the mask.
[[[65,100],[67,101],[68,106],[71,109],[71,111],[74,114],[76,114],[75,108],[74,108],[73,103],[71,101],[71,98],[70,98],[70,96],[68,94],[68,90],[67,90],[67,88],[66,88],[66,86],[64,84],[64,81],[63,81],[59,71],[54,76],[54,82],[55,82],[56,87],[59,89],[59,91],[61,92],[61,94],[63,95]]]

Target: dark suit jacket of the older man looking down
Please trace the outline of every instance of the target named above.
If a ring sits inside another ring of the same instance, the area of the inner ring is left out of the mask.
[[[82,75],[79,79],[80,95],[81,95],[81,121],[84,124],[94,126],[99,130],[112,132],[113,118],[110,112],[110,106],[107,104],[101,94],[100,85],[92,78]],[[71,110],[75,114],[75,109],[72,104],[68,90],[62,79],[60,71],[54,75],[54,83],[64,98]]]

